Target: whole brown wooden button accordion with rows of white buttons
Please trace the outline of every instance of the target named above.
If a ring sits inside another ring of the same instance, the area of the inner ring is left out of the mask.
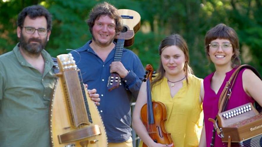
[[[252,103],[219,113],[217,120],[227,146],[262,146],[262,114]]]

